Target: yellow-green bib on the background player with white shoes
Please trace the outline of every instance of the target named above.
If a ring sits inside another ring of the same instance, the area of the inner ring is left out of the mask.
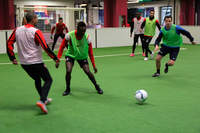
[[[144,35],[146,36],[154,36],[156,32],[156,19],[150,20],[146,18],[146,23],[144,27]]]

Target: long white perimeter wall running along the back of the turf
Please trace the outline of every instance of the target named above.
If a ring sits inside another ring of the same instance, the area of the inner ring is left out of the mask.
[[[200,26],[181,26],[188,30],[194,37],[194,41],[200,44]],[[95,31],[96,30],[96,31]],[[8,37],[12,31],[0,31],[0,53],[6,53],[6,34]],[[93,48],[101,47],[119,47],[119,46],[132,46],[133,37],[130,38],[130,28],[101,28],[101,29],[87,29],[87,33],[90,35]],[[96,33],[96,34],[95,34]],[[153,37],[151,44],[155,43],[155,39],[158,36],[159,31],[156,31],[156,35]],[[184,43],[190,43],[190,41],[183,36]],[[16,50],[16,48],[15,48]]]

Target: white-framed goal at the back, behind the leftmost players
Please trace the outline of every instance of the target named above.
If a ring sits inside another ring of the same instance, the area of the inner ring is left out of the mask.
[[[51,27],[58,22],[58,18],[62,17],[63,22],[69,30],[74,30],[77,22],[86,22],[86,9],[73,7],[17,7],[16,9],[16,25],[22,25],[22,19],[27,12],[34,11],[38,16],[37,28],[43,32],[50,32]]]

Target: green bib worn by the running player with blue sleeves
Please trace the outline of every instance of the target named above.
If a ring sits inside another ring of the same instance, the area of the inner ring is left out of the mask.
[[[163,34],[162,41],[163,44],[169,47],[180,47],[183,43],[182,37],[176,32],[176,25],[172,24],[169,30],[165,27],[161,29]]]

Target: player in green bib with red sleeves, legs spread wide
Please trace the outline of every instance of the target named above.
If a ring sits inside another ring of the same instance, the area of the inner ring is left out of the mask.
[[[74,66],[74,61],[77,60],[80,67],[87,74],[88,78],[94,84],[97,93],[103,94],[103,90],[96,83],[95,77],[89,69],[88,65],[88,55],[93,65],[94,72],[97,73],[97,68],[95,66],[92,43],[90,37],[86,32],[86,24],[84,22],[79,22],[77,26],[77,30],[71,31],[65,35],[65,39],[63,39],[59,51],[58,58],[60,59],[65,47],[67,47],[67,52],[65,54],[66,58],[66,90],[63,93],[63,96],[70,94],[70,81],[71,81],[71,72]],[[59,62],[56,64],[58,68]]]

